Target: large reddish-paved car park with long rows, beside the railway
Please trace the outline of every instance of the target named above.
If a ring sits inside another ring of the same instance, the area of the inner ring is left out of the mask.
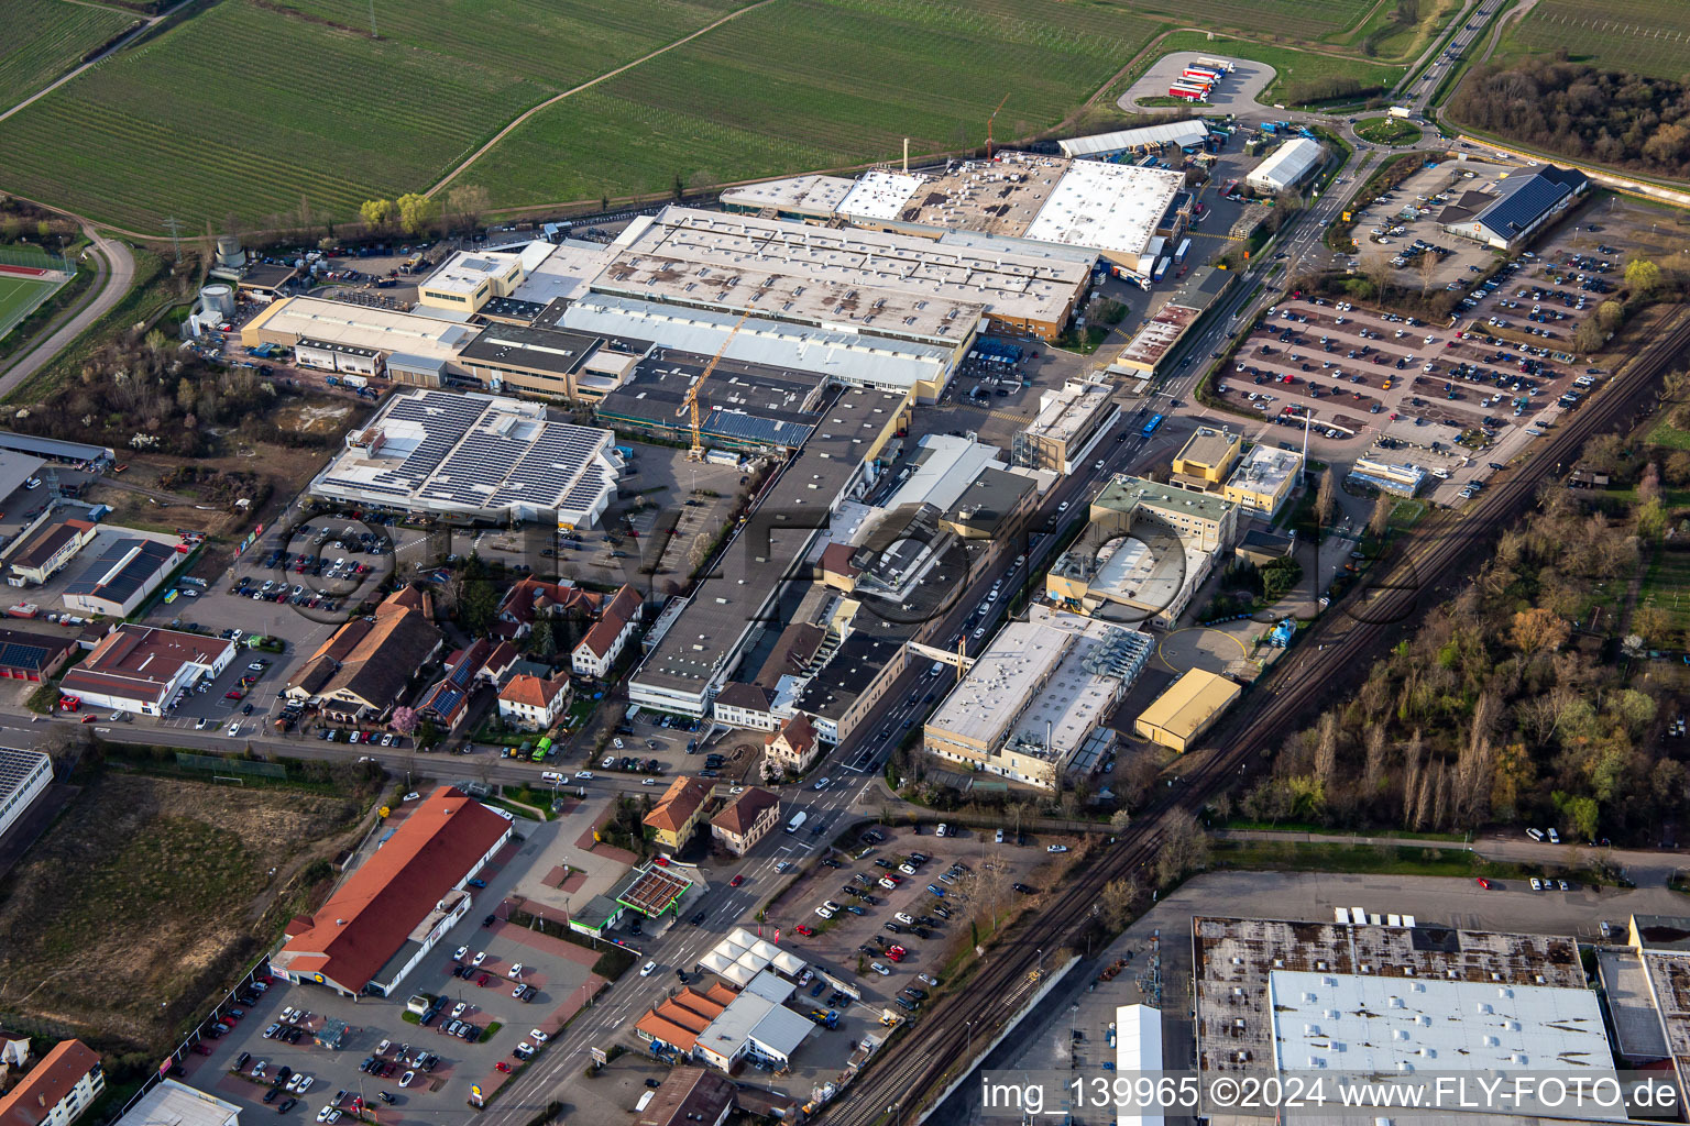
[[[1313,299],[1271,309],[1217,392],[1284,427],[1284,442],[1293,446],[1305,417],[1311,434],[1325,439],[1320,452],[1340,457],[1355,457],[1386,432],[1421,446],[1433,456],[1426,464],[1450,468],[1453,498],[1465,481],[1491,473],[1492,461],[1502,464],[1518,452],[1518,434],[1541,434],[1543,424],[1553,425],[1573,405],[1560,400],[1582,395],[1595,380],[1545,344]],[[1415,441],[1413,429],[1433,424],[1453,430],[1442,441]]]

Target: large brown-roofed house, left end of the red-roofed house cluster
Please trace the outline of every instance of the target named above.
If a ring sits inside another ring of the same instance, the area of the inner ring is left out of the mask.
[[[411,677],[439,653],[428,594],[399,587],[368,618],[336,630],[287,680],[287,699],[319,701],[326,719],[385,719]]]

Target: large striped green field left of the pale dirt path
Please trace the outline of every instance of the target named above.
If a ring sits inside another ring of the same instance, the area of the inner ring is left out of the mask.
[[[331,19],[367,20],[367,3],[301,7],[225,0],[29,106],[0,130],[0,189],[147,233],[167,216],[189,231],[228,214],[286,226],[301,198],[314,218],[350,218],[370,196],[428,189],[563,89],[541,79],[629,62],[725,0],[583,0],[551,22],[534,5],[384,3],[380,41]],[[429,49],[431,34],[451,47]]]

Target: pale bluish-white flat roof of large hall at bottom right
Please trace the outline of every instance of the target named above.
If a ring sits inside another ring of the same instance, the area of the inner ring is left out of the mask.
[[[1590,989],[1276,969],[1268,998],[1279,1070],[1616,1077]]]

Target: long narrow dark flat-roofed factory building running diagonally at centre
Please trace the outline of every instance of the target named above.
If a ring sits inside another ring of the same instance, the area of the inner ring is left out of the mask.
[[[774,621],[769,609],[794,564],[838,505],[865,493],[869,466],[902,425],[904,412],[904,395],[862,387],[837,393],[737,533],[754,539],[723,552],[690,596],[673,599],[659,614],[646,636],[646,658],[629,680],[630,702],[688,716],[710,712],[744,652]]]

